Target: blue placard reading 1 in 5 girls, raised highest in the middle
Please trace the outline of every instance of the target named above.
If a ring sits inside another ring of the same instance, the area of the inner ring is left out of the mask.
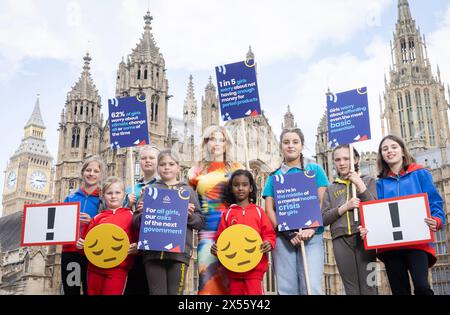
[[[254,60],[216,67],[222,120],[261,114]]]

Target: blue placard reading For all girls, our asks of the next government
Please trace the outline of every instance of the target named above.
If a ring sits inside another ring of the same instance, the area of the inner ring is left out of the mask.
[[[138,249],[183,253],[188,207],[189,191],[148,187]]]

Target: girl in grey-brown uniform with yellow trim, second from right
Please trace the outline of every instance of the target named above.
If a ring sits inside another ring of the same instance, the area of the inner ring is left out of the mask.
[[[330,225],[336,265],[347,295],[374,295],[375,286],[367,278],[372,269],[368,264],[376,261],[375,251],[366,251],[358,232],[359,222],[353,220],[353,211],[361,201],[376,199],[375,179],[360,176],[359,153],[353,149],[355,172],[350,167],[350,147],[340,145],[333,150],[333,161],[338,177],[327,191],[322,204],[323,225]],[[351,186],[356,186],[356,196]]]

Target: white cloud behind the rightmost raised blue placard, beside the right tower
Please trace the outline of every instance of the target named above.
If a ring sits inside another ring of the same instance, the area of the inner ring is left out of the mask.
[[[299,127],[304,131],[306,145],[315,154],[315,142],[318,124],[326,110],[328,87],[338,93],[367,86],[371,118],[372,139],[358,144],[361,150],[376,150],[381,140],[379,94],[384,92],[384,73],[390,64],[389,43],[375,37],[365,50],[366,58],[352,54],[327,57],[311,64],[305,73],[297,76],[297,93],[293,95],[291,110]],[[273,112],[273,117],[276,115]],[[280,117],[281,118],[281,117]],[[280,125],[276,122],[275,125]]]

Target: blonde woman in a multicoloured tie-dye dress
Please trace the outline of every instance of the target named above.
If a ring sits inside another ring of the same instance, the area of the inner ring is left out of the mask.
[[[199,231],[198,266],[201,295],[228,294],[227,272],[210,252],[222,212],[227,209],[224,188],[231,174],[243,168],[232,162],[232,141],[224,127],[208,127],[203,135],[202,161],[189,170],[189,183],[195,188],[206,225]]]

